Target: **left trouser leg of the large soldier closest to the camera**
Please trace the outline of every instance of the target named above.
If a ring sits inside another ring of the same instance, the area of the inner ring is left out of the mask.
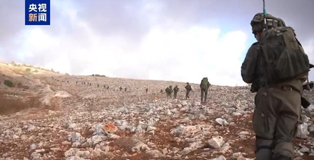
[[[261,88],[255,97],[253,129],[256,133],[256,160],[272,160],[273,134],[276,126],[275,98]]]

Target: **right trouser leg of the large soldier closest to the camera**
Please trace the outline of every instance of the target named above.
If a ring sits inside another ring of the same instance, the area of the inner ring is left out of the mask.
[[[300,117],[301,96],[294,90],[276,89],[274,94],[282,101],[278,114],[274,137],[274,158],[288,157],[293,159],[292,139],[296,134],[297,121]]]

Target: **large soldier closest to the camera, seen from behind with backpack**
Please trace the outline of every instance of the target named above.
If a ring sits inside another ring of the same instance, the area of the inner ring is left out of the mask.
[[[252,83],[251,92],[257,92],[253,115],[256,159],[293,160],[292,139],[300,117],[302,83],[307,79],[309,59],[292,29],[286,27],[281,19],[270,14],[264,19],[263,13],[258,13],[251,21],[251,26],[257,42],[245,56],[241,76],[245,82]],[[279,57],[277,53],[281,59],[274,60]],[[287,55],[289,60],[285,61]],[[273,58],[275,64],[270,63],[270,58]],[[271,67],[275,65],[281,72],[274,72]],[[294,73],[302,74],[293,75]],[[283,79],[288,75],[291,77]]]

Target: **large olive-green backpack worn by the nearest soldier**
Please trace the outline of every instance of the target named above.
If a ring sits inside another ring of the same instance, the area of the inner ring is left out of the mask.
[[[310,71],[309,58],[292,27],[263,30],[261,50],[269,83],[294,80]]]

